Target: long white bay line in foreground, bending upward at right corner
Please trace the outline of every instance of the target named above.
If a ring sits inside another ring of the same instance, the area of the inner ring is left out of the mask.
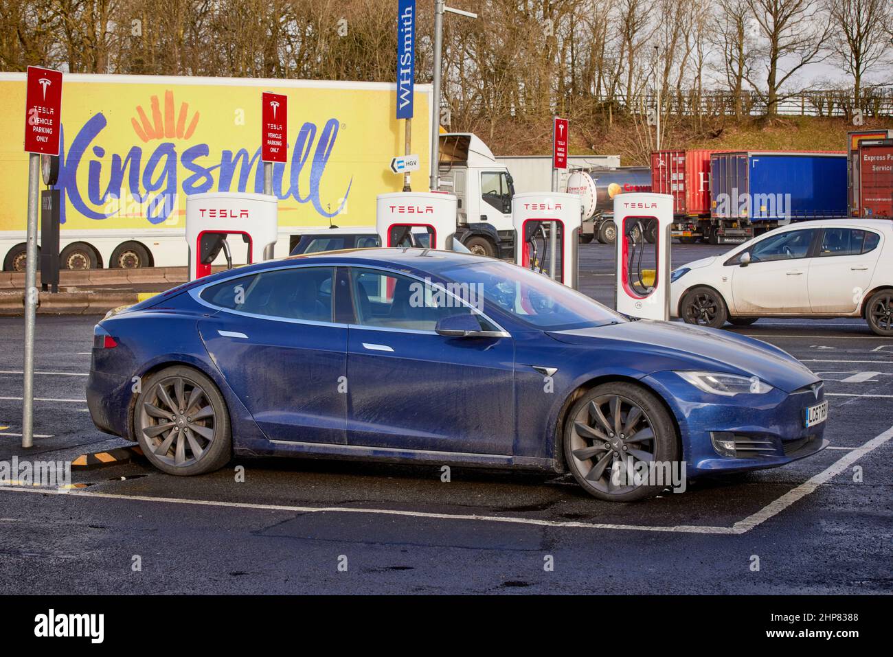
[[[170,504],[193,504],[196,506],[213,506],[226,507],[234,509],[255,509],[258,511],[288,511],[292,513],[366,513],[371,515],[388,515],[388,516],[406,516],[411,518],[430,518],[434,520],[476,520],[480,522],[505,522],[515,525],[533,525],[536,527],[554,527],[554,528],[581,528],[581,529],[626,529],[633,531],[656,531],[656,532],[675,532],[680,534],[723,534],[738,535],[745,534],[757,525],[769,520],[773,516],[778,515],[781,511],[787,509],[791,504],[804,498],[806,495],[813,493],[822,484],[830,481],[844,470],[847,470],[853,463],[862,458],[865,454],[877,449],[880,445],[886,443],[893,437],[893,427],[884,431],[880,436],[873,437],[861,447],[847,448],[839,447],[838,449],[847,450],[848,453],[842,456],[838,461],[832,463],[830,467],[822,470],[817,475],[809,478],[805,483],[793,488],[785,495],[772,503],[766,504],[760,511],[747,516],[744,520],[739,520],[731,527],[708,527],[698,525],[676,525],[673,527],[648,526],[648,525],[618,525],[600,522],[577,522],[573,520],[538,520],[535,518],[518,518],[513,516],[486,516],[486,515],[463,515],[457,513],[430,513],[426,511],[400,511],[396,509],[364,509],[346,506],[291,506],[285,504],[255,504],[245,502],[221,502],[218,500],[190,500],[182,497],[153,497],[151,495],[119,495],[114,493],[99,492],[74,492],[71,490],[54,490],[51,488],[22,488],[0,486],[0,491],[12,491],[14,493],[38,493],[40,495],[69,495],[71,497],[96,497],[112,500],[136,500],[138,502],[154,502],[154,503],[170,503]]]

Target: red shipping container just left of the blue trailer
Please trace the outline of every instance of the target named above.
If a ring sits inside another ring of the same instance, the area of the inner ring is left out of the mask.
[[[710,216],[710,155],[722,151],[655,151],[651,154],[651,188],[673,197],[673,214]]]

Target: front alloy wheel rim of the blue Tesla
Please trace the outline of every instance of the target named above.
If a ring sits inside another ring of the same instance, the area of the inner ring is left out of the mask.
[[[637,488],[636,463],[655,460],[655,430],[637,403],[621,395],[601,395],[574,418],[571,454],[580,475],[593,487],[620,495]]]

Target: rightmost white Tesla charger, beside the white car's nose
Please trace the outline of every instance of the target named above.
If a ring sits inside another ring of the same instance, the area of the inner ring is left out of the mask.
[[[670,240],[672,196],[627,192],[614,196],[614,225],[617,227],[616,308],[643,320],[670,319]],[[647,244],[645,225],[657,221],[655,244]],[[654,254],[652,259],[647,251]],[[643,258],[654,276],[643,270]]]

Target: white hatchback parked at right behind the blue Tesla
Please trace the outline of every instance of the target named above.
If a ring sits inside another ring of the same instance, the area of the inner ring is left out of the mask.
[[[673,270],[673,317],[721,327],[761,317],[862,317],[893,336],[893,220],[803,221]]]

